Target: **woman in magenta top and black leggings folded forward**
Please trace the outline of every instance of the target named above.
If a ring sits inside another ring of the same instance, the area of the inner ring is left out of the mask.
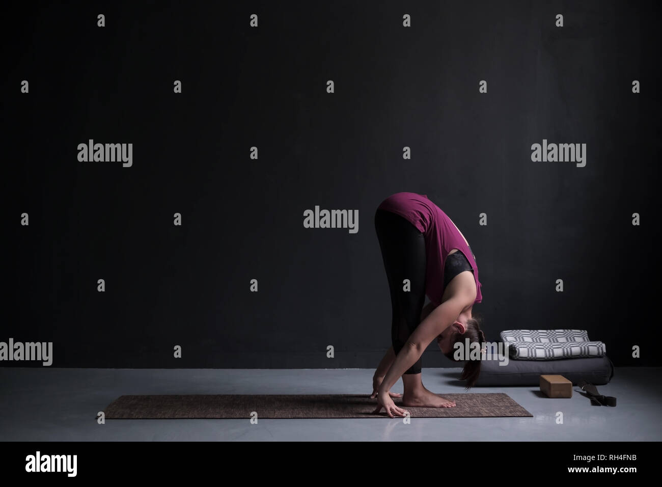
[[[395,406],[390,392],[402,376],[403,406],[453,407],[455,403],[427,390],[421,380],[420,356],[436,339],[455,360],[453,345],[485,343],[471,310],[483,300],[475,255],[453,221],[427,195],[395,193],[375,212],[375,230],[391,292],[391,343],[373,378],[372,398],[390,417],[407,411]],[[430,303],[423,309],[425,296]],[[422,320],[422,321],[421,321]],[[419,324],[420,323],[420,324]],[[464,352],[462,353],[464,355]],[[465,363],[461,379],[471,388],[480,360]]]

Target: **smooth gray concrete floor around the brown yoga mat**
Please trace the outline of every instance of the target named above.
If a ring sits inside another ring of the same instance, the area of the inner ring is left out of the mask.
[[[601,394],[618,406],[548,399],[536,387],[505,392],[534,417],[402,419],[116,419],[99,411],[123,394],[369,394],[368,369],[0,368],[0,441],[660,441],[662,368],[616,368]],[[437,393],[464,392],[459,369],[426,368]],[[574,388],[577,390],[577,387]],[[399,381],[392,389],[402,392]],[[557,411],[563,424],[556,423]]]

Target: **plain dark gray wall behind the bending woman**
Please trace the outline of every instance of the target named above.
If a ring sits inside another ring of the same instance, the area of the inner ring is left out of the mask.
[[[17,8],[0,341],[52,341],[54,366],[377,366],[373,215],[416,191],[471,243],[489,340],[583,328],[616,365],[660,364],[654,2]],[[78,162],[89,138],[131,142],[132,167]],[[586,166],[532,162],[544,138],[587,144]],[[315,205],[358,209],[359,232],[305,229]],[[430,347],[423,364],[450,362]]]

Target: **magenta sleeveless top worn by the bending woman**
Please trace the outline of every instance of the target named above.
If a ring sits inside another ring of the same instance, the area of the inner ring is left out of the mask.
[[[427,257],[425,294],[435,306],[441,304],[444,296],[444,264],[448,252],[453,248],[460,250],[473,268],[473,278],[476,281],[474,304],[483,301],[481,282],[478,280],[478,266],[471,248],[467,246],[448,215],[432,203],[427,195],[395,193],[382,201],[378,209],[404,217],[424,235]]]

